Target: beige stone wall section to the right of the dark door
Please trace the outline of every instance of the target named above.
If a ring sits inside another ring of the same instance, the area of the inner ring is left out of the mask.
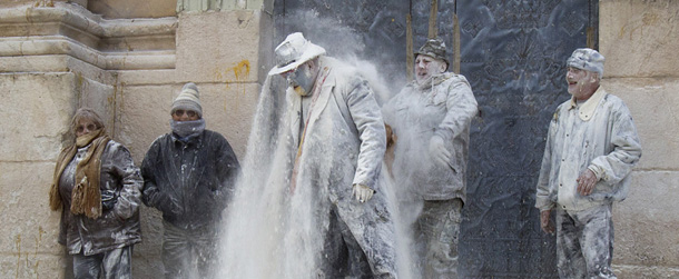
[[[614,207],[619,278],[679,277],[679,1],[600,2],[603,86],[634,117],[643,155]]]

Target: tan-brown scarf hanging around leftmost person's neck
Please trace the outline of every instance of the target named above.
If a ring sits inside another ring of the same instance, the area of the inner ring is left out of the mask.
[[[101,153],[110,141],[105,129],[80,136],[76,145],[61,150],[57,159],[52,186],[49,192],[49,205],[52,210],[61,208],[61,195],[59,193],[59,179],[61,173],[73,159],[78,148],[92,146],[87,150],[82,161],[76,167],[76,186],[71,192],[71,213],[85,215],[90,219],[101,216],[101,190],[99,189],[99,176],[101,173]]]

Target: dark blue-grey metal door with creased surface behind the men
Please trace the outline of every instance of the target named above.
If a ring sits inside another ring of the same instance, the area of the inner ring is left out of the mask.
[[[430,0],[276,1],[275,40],[303,31],[331,56],[356,53],[378,67],[395,94],[406,82],[406,14],[417,49],[427,36],[430,9]],[[461,73],[480,109],[472,123],[460,272],[557,278],[554,239],[540,230],[534,188],[549,120],[569,98],[565,59],[585,47],[588,28],[597,36],[598,1],[439,0],[439,37],[451,61],[455,12]]]

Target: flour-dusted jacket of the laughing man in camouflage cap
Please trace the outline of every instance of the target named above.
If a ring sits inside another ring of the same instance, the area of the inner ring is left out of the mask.
[[[396,183],[425,200],[466,200],[466,159],[476,99],[463,76],[444,72],[425,84],[415,81],[384,104],[384,121],[397,140],[392,168]],[[452,153],[447,167],[429,152],[439,136]]]

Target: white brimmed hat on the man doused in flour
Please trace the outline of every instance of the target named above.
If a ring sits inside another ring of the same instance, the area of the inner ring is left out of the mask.
[[[268,76],[296,69],[304,62],[325,54],[325,49],[305,39],[301,32],[295,32],[288,34],[274,52],[276,53],[276,66],[268,71]]]

